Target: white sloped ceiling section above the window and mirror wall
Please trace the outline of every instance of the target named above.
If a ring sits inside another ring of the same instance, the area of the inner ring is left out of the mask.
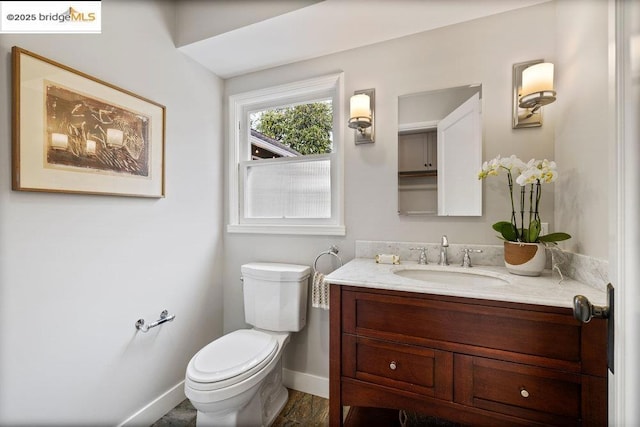
[[[546,1],[324,0],[179,49],[230,78]]]

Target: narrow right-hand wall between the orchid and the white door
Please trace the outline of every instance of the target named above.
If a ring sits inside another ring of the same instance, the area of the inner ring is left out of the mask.
[[[555,156],[556,231],[574,238],[567,249],[607,259],[610,180],[615,170],[608,62],[608,3],[558,2]]]

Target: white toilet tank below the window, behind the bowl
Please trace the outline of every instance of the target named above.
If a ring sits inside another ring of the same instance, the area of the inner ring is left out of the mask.
[[[275,332],[304,328],[311,267],[254,262],[244,264],[241,271],[248,324]]]

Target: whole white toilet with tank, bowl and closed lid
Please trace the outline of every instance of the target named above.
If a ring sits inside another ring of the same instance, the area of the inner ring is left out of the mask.
[[[200,426],[268,426],[287,402],[282,353],[307,321],[311,268],[281,263],[241,267],[245,321],[209,343],[187,366],[185,394]]]

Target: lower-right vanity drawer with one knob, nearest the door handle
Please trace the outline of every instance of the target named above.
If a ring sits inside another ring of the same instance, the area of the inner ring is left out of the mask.
[[[580,425],[580,375],[459,354],[454,364],[457,403],[547,425]]]

